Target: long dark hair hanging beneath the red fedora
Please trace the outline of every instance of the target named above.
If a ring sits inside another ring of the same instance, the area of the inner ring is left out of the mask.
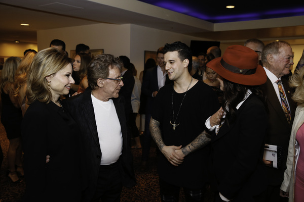
[[[251,90],[265,105],[265,97],[259,86],[242,85],[222,78],[224,88],[222,97],[222,109],[226,112],[225,120],[231,124],[236,120],[236,108],[243,101],[247,90]]]

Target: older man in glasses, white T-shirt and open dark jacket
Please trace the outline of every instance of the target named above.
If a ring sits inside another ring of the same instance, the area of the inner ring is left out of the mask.
[[[88,181],[84,201],[120,201],[122,185],[135,185],[130,136],[127,133],[121,63],[109,54],[96,56],[88,67],[89,87],[65,99],[79,124]]]

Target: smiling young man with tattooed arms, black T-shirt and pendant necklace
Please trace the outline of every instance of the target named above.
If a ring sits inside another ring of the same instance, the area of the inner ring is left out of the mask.
[[[162,201],[178,201],[183,187],[186,201],[203,201],[208,181],[210,138],[205,121],[219,108],[215,92],[194,79],[191,49],[174,42],[164,47],[170,80],[155,97],[150,131],[160,149],[158,172]]]

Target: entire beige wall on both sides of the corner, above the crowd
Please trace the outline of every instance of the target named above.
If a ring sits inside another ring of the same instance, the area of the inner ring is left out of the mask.
[[[103,49],[106,54],[127,56],[138,72],[143,70],[144,51],[157,51],[167,42],[182,41],[190,45],[191,40],[206,40],[134,24],[93,24],[40,30],[37,32],[39,50],[49,47],[53,39],[63,40],[69,55],[78,43],[84,43],[90,49]]]

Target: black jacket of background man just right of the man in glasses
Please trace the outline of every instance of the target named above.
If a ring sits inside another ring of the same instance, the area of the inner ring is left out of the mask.
[[[125,98],[125,112],[126,118],[129,118],[129,114],[133,113],[131,105],[131,95],[135,84],[134,76],[131,70],[127,70],[123,75],[124,86],[121,87],[119,95]]]

